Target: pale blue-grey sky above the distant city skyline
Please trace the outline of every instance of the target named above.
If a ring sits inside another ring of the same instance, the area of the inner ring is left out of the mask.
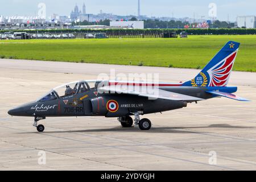
[[[47,17],[53,13],[69,15],[77,3],[82,9],[85,2],[86,13],[104,13],[118,15],[137,15],[138,0],[0,0],[0,15],[34,16],[38,12],[38,3],[46,3]],[[147,16],[170,16],[175,18],[208,18],[209,3],[216,3],[217,18],[220,20],[236,20],[237,15],[256,15],[255,0],[141,0],[141,14]]]

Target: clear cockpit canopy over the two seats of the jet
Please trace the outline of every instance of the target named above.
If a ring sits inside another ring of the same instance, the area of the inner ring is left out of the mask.
[[[63,98],[68,96],[73,96],[79,93],[85,93],[89,90],[97,90],[98,85],[101,84],[102,81],[77,81],[71,82],[65,85],[58,86],[51,90],[51,92],[47,93],[46,96],[41,97],[39,102],[46,102],[56,100],[57,98]],[[101,84],[104,86],[104,84]]]

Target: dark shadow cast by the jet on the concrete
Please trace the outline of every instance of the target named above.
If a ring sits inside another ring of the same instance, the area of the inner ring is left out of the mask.
[[[229,128],[229,129],[249,129],[254,127],[246,127],[246,126],[232,126],[228,124],[214,124],[209,126],[198,126],[198,127],[152,127],[148,131],[144,131],[147,133],[178,133],[178,134],[199,134],[204,133],[200,131],[185,131],[185,129],[207,129],[207,128]],[[121,126],[113,127],[109,129],[88,129],[88,130],[69,130],[69,131],[44,131],[45,134],[53,134],[53,133],[101,133],[101,132],[130,132],[130,133],[141,133],[143,131],[139,130],[137,127],[124,128]],[[31,133],[22,133],[22,134],[32,134],[38,132]]]

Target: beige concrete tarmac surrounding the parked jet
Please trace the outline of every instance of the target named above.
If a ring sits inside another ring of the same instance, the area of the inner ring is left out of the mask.
[[[33,118],[7,111],[50,89],[100,73],[159,73],[179,82],[199,70],[0,60],[0,170],[256,170],[256,73],[233,72],[230,86],[252,102],[214,98],[180,110],[144,115],[150,131],[115,118]],[[44,162],[46,156],[46,164]]]

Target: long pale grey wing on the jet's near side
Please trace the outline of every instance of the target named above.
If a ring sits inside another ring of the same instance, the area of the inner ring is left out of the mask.
[[[197,98],[192,96],[187,96],[184,94],[168,92],[166,90],[161,90],[159,88],[150,88],[147,86],[104,86],[98,89],[101,93],[117,93],[117,94],[130,94],[141,97],[148,97],[151,100],[154,99],[164,99],[172,101],[201,101],[203,98]]]

